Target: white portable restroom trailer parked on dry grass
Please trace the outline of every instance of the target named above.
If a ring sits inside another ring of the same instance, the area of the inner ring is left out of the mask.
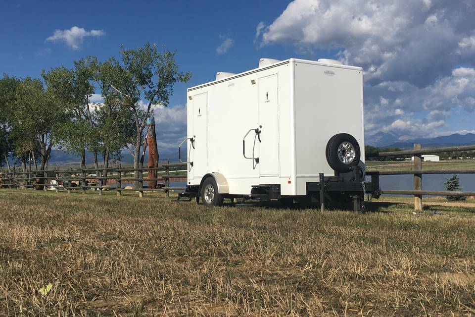
[[[364,183],[361,67],[263,58],[256,69],[219,72],[187,93],[182,196],[204,205],[237,197],[359,205],[365,190],[378,195]]]

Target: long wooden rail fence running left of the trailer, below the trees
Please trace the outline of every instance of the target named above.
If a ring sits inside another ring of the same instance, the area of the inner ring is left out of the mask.
[[[139,197],[143,197],[143,192],[165,192],[166,197],[170,197],[172,190],[185,190],[186,187],[171,187],[170,179],[187,180],[186,175],[172,175],[171,169],[173,167],[187,167],[187,163],[170,163],[167,161],[164,164],[159,164],[158,167],[148,168],[129,168],[122,167],[120,164],[116,167],[109,168],[88,168],[88,169],[68,169],[60,170],[59,167],[48,170],[27,170],[18,169],[10,172],[0,172],[0,188],[36,188],[44,189],[54,188],[56,192],[66,190],[68,193],[72,191],[81,191],[86,193],[86,190],[97,190],[98,195],[102,195],[103,190],[115,190],[117,196],[120,196],[124,191],[138,192]],[[143,172],[152,170],[163,170],[164,175],[157,176],[157,178],[143,177]],[[135,172],[139,171],[139,178],[134,176]],[[128,176],[132,174],[132,176]],[[108,185],[108,180],[116,182],[115,186]],[[53,181],[55,183],[53,183]],[[157,184],[157,188],[144,187],[145,182],[163,181]],[[60,183],[63,184],[60,184]],[[138,184],[137,187],[125,186],[127,183]]]

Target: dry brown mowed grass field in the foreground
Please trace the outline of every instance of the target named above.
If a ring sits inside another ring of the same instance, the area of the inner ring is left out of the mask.
[[[394,200],[357,213],[0,190],[0,316],[475,314],[475,204],[415,215]]]

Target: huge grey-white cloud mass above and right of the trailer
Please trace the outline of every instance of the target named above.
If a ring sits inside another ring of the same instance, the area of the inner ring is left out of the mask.
[[[367,132],[416,135],[447,128],[456,107],[475,111],[474,14],[473,1],[294,0],[256,36],[362,66]],[[426,118],[414,119],[421,111]]]

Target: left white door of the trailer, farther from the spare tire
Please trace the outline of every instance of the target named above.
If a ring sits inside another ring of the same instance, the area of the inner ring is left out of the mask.
[[[208,94],[194,95],[192,102],[194,147],[190,147],[190,173],[192,178],[201,178],[208,172]]]

